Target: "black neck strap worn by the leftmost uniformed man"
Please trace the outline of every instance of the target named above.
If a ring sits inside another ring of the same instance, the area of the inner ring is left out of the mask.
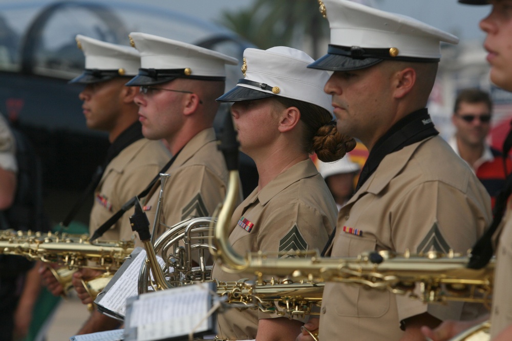
[[[78,210],[82,207],[83,203],[88,199],[89,195],[94,191],[94,189],[98,186],[99,181],[101,180],[101,176],[105,171],[106,166],[113,160],[114,157],[119,155],[119,153],[131,145],[135,141],[138,141],[143,138],[142,135],[142,126],[139,121],[132,124],[126,130],[124,130],[119,137],[110,145],[109,149],[106,152],[105,161],[101,166],[98,166],[96,172],[93,174],[93,178],[91,182],[87,186],[86,190],[78,197],[75,204],[71,208],[71,210],[66,215],[66,218],[60,222],[60,226],[67,228],[71,220],[76,216]]]

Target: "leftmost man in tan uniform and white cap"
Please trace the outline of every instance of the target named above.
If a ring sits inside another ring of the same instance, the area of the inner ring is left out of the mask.
[[[137,74],[140,57],[137,50],[90,37],[77,35],[78,47],[86,58],[84,72],[70,81],[85,85],[79,94],[87,126],[107,131],[112,143],[107,153],[106,167],[94,192],[89,231],[96,229],[116,213],[121,206],[139,194],[167,163],[170,153],[159,141],[144,139],[138,122],[138,108],[133,102],[138,89],[126,87],[124,83]],[[124,214],[101,237],[104,240],[130,240],[132,230]],[[43,268],[42,276],[48,288],[55,295],[62,292],[51,272]],[[100,271],[82,269],[75,274],[73,284],[82,300],[92,301],[83,288],[80,278],[90,279]],[[110,323],[109,323],[110,322]],[[99,312],[93,312],[91,319],[79,333],[90,333],[112,329],[117,321],[104,320]]]

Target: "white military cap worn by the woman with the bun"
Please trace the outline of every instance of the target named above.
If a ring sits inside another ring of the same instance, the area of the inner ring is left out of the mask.
[[[238,102],[271,96],[316,104],[332,112],[331,97],[324,92],[327,71],[307,69],[313,58],[306,53],[278,46],[268,50],[245,49],[237,86],[219,97],[219,102]]]

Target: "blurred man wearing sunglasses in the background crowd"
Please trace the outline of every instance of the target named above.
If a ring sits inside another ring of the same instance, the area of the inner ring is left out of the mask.
[[[476,89],[462,89],[455,100],[452,122],[455,134],[450,146],[475,171],[489,193],[494,207],[496,195],[505,186],[505,170],[501,153],[486,143],[493,103],[489,94]],[[507,159],[507,169],[512,162]]]

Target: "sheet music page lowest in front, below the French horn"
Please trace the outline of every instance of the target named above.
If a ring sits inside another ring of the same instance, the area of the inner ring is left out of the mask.
[[[211,319],[198,323],[211,307],[209,290],[208,284],[201,283],[139,295],[132,303],[126,329],[136,328],[138,341],[207,331],[212,327]]]

